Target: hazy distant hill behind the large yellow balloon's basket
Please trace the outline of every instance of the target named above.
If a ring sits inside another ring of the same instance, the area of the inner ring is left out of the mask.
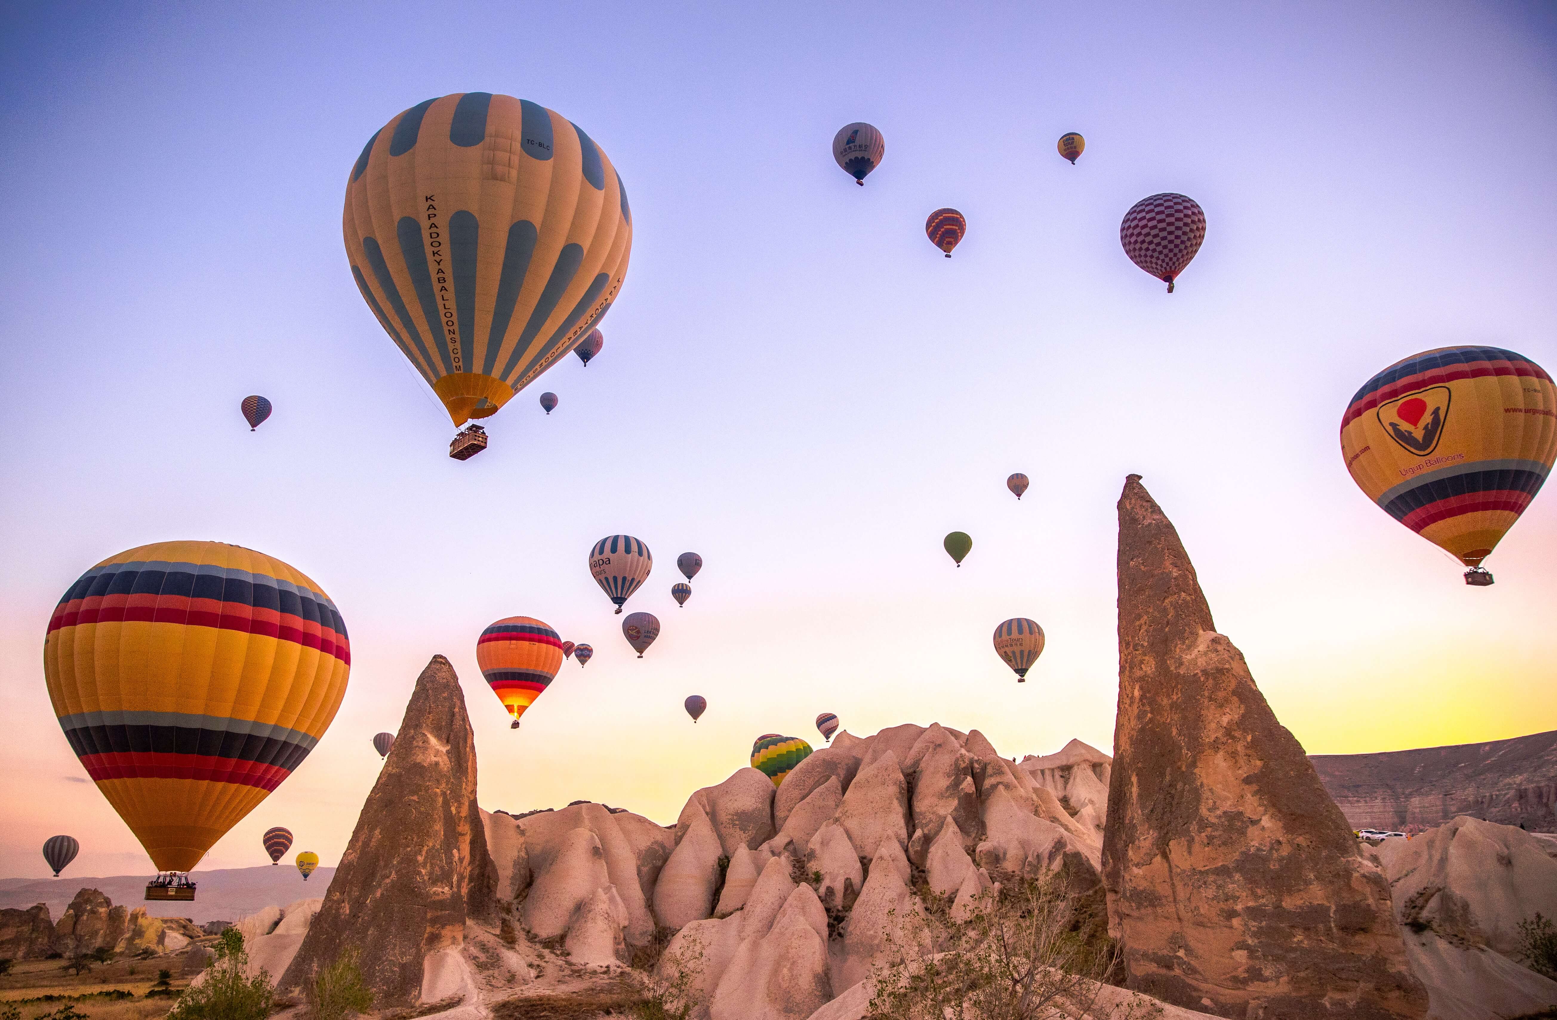
[[[145,906],[153,917],[188,917],[202,925],[209,920],[238,920],[266,906],[322,897],[335,878],[335,869],[321,867],[308,881],[291,866],[198,871],[193,875],[199,886],[193,903],[146,903],[146,878],[149,875],[92,878],[72,875],[69,871],[59,878],[0,878],[0,908],[25,909],[33,903],[45,903],[48,916],[58,922],[78,889],[97,889],[115,905],[123,903],[132,909]]]

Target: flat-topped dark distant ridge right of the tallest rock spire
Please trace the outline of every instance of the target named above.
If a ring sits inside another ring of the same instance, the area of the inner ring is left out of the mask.
[[[1439,825],[1470,814],[1557,832],[1557,730],[1383,754],[1316,754],[1325,790],[1353,828]]]

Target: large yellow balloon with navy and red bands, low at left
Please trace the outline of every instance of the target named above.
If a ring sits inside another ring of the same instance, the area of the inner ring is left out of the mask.
[[[308,755],[350,673],[335,603],[271,556],[157,542],[92,567],[54,607],[48,696],[72,751],[151,855],[153,899]]]

